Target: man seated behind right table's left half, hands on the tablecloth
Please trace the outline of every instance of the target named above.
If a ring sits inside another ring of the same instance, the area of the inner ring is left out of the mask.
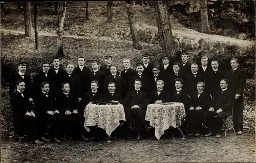
[[[152,92],[152,96],[149,100],[150,104],[156,103],[163,103],[163,102],[169,102],[169,94],[167,91],[163,90],[164,87],[164,81],[163,80],[157,80],[156,82],[157,90]]]

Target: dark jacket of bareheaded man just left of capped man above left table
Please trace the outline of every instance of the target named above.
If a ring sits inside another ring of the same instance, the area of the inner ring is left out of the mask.
[[[88,77],[88,74],[91,72],[90,68],[83,66],[82,71],[79,68],[79,66],[74,68],[73,73],[77,74],[79,79],[80,79],[80,83],[81,83],[81,87],[82,87],[82,94],[84,94],[84,92],[89,91],[90,89],[88,89],[87,85],[90,83],[86,83],[87,80],[86,78]]]

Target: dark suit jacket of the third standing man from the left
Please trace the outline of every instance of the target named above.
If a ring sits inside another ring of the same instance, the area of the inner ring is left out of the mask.
[[[50,91],[54,92],[55,96],[59,96],[62,92],[61,84],[65,82],[67,72],[59,67],[58,73],[56,74],[54,67],[49,69],[49,85]]]

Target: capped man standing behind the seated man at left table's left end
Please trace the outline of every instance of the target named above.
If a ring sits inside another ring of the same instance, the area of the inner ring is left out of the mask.
[[[99,88],[98,91],[100,93],[104,92],[104,79],[105,79],[105,74],[99,71],[99,65],[100,62],[96,59],[92,60],[92,72],[88,74],[88,82],[91,83],[93,80],[98,81],[99,83]],[[88,85],[90,87],[90,85]]]

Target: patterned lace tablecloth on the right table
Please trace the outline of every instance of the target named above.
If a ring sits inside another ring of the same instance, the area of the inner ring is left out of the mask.
[[[160,139],[164,130],[170,126],[174,128],[181,126],[181,119],[185,115],[185,107],[182,103],[150,104],[147,105],[145,120],[150,121],[150,125],[155,128],[156,138]]]

